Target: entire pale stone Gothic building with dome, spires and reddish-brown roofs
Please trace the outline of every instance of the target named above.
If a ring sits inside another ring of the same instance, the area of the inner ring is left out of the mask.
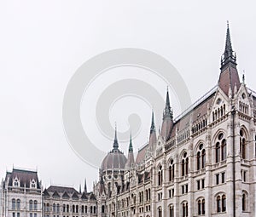
[[[256,216],[256,93],[236,68],[230,28],[218,83],[176,119],[169,93],[160,133],[128,156],[102,159],[93,191],[86,183],[43,188],[37,171],[14,168],[0,192],[0,217]]]

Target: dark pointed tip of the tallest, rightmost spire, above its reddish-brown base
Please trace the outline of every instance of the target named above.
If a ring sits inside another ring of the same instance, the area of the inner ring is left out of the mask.
[[[227,21],[226,44],[224,54],[221,59],[221,70],[223,70],[228,63],[232,63],[236,66],[236,53],[232,49],[229,21]]]

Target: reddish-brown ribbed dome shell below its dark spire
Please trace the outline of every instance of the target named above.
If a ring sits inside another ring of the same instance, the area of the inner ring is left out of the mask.
[[[119,149],[113,149],[102,161],[102,171],[106,170],[123,170],[127,158]]]

